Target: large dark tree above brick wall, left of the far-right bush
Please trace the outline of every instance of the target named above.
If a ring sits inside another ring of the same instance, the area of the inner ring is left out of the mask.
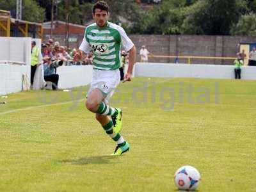
[[[199,35],[230,35],[232,24],[246,12],[243,0],[200,0],[189,6],[182,33]]]

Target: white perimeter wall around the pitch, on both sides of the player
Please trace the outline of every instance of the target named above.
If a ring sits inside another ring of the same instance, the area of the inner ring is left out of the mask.
[[[23,61],[26,65],[0,63],[0,95],[20,92],[22,74],[30,78],[31,38],[0,37],[0,60]],[[36,44],[40,45],[36,39]],[[125,66],[127,67],[127,66]],[[60,75],[59,88],[72,88],[89,84],[92,66],[63,66],[57,69]],[[38,71],[37,74],[40,74]],[[41,73],[42,74],[42,73]],[[141,77],[198,77],[234,79],[234,66],[230,65],[188,65],[172,63],[136,63],[134,76]],[[42,77],[42,76],[41,76]],[[242,79],[256,79],[256,67],[243,67]],[[40,78],[36,75],[35,78]],[[38,80],[35,79],[34,82]],[[36,88],[42,87],[42,83]]]

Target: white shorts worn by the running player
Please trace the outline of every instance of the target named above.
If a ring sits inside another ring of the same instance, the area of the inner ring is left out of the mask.
[[[108,103],[109,99],[115,92],[115,88],[120,83],[120,71],[116,70],[93,70],[92,82],[88,94],[93,89],[98,88],[104,96],[106,96],[104,102]],[[87,95],[88,95],[87,94]]]

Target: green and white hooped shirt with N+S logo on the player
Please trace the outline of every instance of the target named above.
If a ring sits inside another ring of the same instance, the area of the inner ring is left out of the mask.
[[[93,69],[116,70],[121,66],[121,45],[125,51],[134,46],[122,27],[108,22],[99,28],[93,23],[85,29],[79,49],[85,53],[93,51]]]

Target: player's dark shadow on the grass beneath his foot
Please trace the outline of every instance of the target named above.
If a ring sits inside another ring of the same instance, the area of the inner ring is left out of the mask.
[[[71,164],[113,164],[118,162],[111,162],[111,159],[116,159],[114,156],[91,156],[81,157],[80,159],[65,159],[60,163],[71,163]]]

